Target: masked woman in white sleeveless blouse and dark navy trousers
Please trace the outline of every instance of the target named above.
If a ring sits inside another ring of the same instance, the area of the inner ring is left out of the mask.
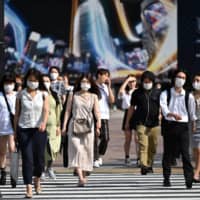
[[[22,153],[22,175],[26,198],[32,198],[32,177],[36,194],[41,192],[40,177],[44,171],[49,115],[48,94],[40,89],[40,72],[29,69],[23,90],[16,99],[15,133]]]

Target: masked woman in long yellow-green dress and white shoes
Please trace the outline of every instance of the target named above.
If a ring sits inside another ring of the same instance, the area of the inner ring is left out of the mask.
[[[42,174],[42,178],[49,176],[52,179],[56,179],[56,175],[52,168],[53,162],[60,150],[61,144],[61,131],[60,131],[60,114],[61,114],[61,103],[58,95],[51,89],[50,78],[48,75],[42,75],[42,90],[47,91],[49,96],[49,117],[46,125],[47,132],[47,144],[45,150],[45,166],[46,170]]]

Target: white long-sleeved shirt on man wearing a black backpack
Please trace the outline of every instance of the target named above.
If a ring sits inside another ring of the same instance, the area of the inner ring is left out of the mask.
[[[191,121],[195,121],[196,117],[196,108],[194,96],[190,93],[188,98],[188,111],[185,102],[186,92],[184,89],[180,93],[177,93],[174,88],[170,89],[171,97],[169,104],[167,102],[167,91],[163,91],[160,95],[160,106],[162,113],[166,120],[176,121],[174,117],[167,117],[169,113],[175,113],[182,117],[181,120],[177,122],[189,122],[189,117]]]

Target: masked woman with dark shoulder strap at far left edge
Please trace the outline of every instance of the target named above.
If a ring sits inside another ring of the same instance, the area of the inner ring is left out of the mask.
[[[10,111],[15,114],[16,92],[13,91],[14,86],[15,77],[10,73],[4,74],[0,83],[0,185],[6,184],[7,145],[10,152],[15,150],[14,130],[10,118]]]

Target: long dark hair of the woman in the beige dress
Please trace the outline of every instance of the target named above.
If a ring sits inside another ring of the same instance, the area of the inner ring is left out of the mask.
[[[95,81],[93,80],[92,76],[90,74],[82,74],[75,83],[75,87],[74,87],[74,92],[78,92],[81,90],[81,81],[86,78],[89,80],[90,84],[91,84],[91,88],[88,90],[91,93],[94,93],[98,96],[98,98],[101,98],[101,93],[99,91],[98,86],[96,85]]]

